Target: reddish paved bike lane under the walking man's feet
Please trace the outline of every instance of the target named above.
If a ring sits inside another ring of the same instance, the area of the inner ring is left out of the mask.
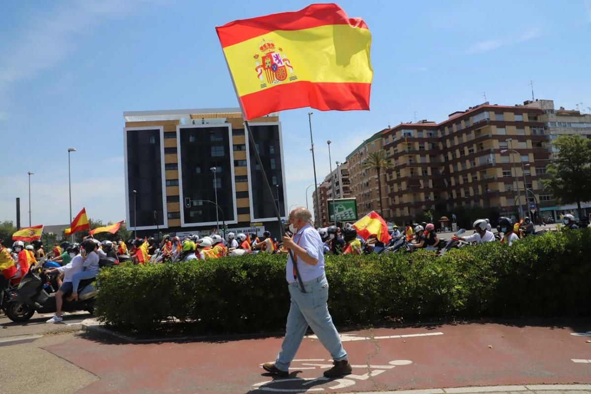
[[[351,331],[342,337],[353,374],[336,380],[322,377],[332,362],[313,336],[287,379],[260,367],[274,360],[278,337],[130,344],[85,335],[46,350],[100,377],[80,393],[339,393],[591,383],[591,337],[571,335],[587,331],[589,320]]]

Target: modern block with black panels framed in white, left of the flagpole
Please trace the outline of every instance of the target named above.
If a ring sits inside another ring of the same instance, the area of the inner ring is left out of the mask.
[[[136,111],[124,118],[129,230],[142,237],[209,233],[219,217],[230,230],[256,225],[279,233],[272,204],[285,218],[286,190],[278,116],[249,122],[274,196],[264,187],[240,109]],[[209,202],[216,198],[221,211]]]

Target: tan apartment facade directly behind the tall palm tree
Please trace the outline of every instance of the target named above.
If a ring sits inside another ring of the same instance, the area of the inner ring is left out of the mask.
[[[364,170],[368,154],[384,148],[384,140],[380,131],[363,141],[347,156],[349,163],[349,177],[351,180],[351,197],[357,200],[358,217],[363,217],[371,211],[379,211],[378,172],[375,169]],[[382,171],[380,174],[382,183],[382,217],[392,219],[392,209],[389,203],[389,190],[387,183],[388,174]]]

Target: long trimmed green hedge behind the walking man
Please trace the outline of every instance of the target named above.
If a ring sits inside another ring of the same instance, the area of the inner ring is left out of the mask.
[[[591,230],[548,232],[509,248],[498,242],[434,252],[327,256],[336,325],[401,319],[560,316],[591,312]],[[99,273],[95,314],[145,332],[176,318],[199,333],[285,327],[285,255],[251,255]]]

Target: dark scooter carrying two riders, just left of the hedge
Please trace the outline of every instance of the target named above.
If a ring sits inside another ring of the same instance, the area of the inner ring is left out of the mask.
[[[113,258],[101,258],[99,260],[99,267],[113,266],[115,265],[115,261],[116,259]],[[22,277],[18,289],[12,294],[7,304],[3,305],[4,312],[10,320],[21,323],[33,317],[35,312],[56,312],[56,297],[44,289],[43,280],[37,273],[38,269],[43,267],[44,262],[45,259],[42,259],[29,269],[25,276]],[[92,313],[94,310],[95,296],[98,291],[92,285],[93,281],[95,281],[95,278],[80,281],[77,289],[77,301],[67,301],[70,293],[64,294],[61,310],[64,312],[88,311]]]

